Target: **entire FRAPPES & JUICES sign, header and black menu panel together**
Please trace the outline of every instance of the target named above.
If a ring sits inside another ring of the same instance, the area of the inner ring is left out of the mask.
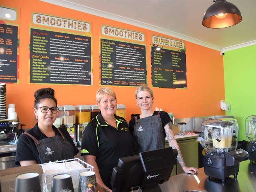
[[[182,41],[152,36],[152,86],[160,88],[187,88],[186,52]]]

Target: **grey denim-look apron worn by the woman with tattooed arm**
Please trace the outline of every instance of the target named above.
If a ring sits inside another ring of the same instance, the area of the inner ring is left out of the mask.
[[[165,136],[160,118],[157,115],[141,118],[135,116],[134,137],[137,141],[136,152],[165,148]]]

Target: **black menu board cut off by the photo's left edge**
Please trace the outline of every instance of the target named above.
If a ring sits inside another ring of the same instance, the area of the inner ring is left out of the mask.
[[[0,82],[17,83],[18,27],[0,24]]]

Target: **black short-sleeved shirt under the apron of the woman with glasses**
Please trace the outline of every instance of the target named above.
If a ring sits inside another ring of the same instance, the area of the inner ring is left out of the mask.
[[[61,136],[55,126],[52,126],[52,128],[55,132],[55,135]],[[63,136],[67,139],[67,141],[70,142],[70,144],[73,146],[73,148],[74,148],[73,156],[77,155],[79,150],[76,148],[67,129],[59,128],[59,130],[61,131]],[[47,136],[39,130],[37,124],[35,124],[35,126],[32,129],[29,129],[27,132],[30,133],[31,135],[33,135],[37,140],[47,138]],[[61,159],[61,160],[64,160],[64,159]],[[25,134],[20,135],[18,143],[17,143],[15,164],[20,165],[19,161],[37,161],[37,163],[41,163],[41,161],[39,159],[39,153],[38,153],[37,147],[35,146],[34,140]]]

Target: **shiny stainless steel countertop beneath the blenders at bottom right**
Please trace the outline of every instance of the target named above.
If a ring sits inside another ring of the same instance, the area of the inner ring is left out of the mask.
[[[204,168],[200,168],[196,175],[184,173],[170,177],[169,181],[160,185],[160,188],[162,192],[256,192],[256,164],[251,165],[249,160],[241,162],[237,179],[230,176],[224,184],[212,177],[207,180]]]

